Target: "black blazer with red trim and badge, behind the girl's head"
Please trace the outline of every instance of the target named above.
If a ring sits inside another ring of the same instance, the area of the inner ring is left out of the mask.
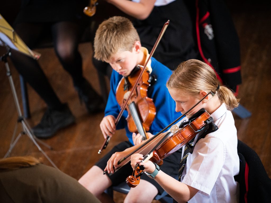
[[[241,84],[240,45],[223,0],[196,0],[196,37],[202,59],[214,68],[218,80],[237,94]]]

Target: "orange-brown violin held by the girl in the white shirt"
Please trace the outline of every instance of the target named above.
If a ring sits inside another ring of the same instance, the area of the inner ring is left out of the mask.
[[[199,112],[204,109],[201,109]],[[142,162],[152,161],[157,163],[172,153],[176,152],[178,149],[188,144],[200,131],[205,132],[209,129],[211,124],[211,131],[214,132],[218,127],[213,123],[213,118],[210,114],[204,110],[200,116],[192,119],[184,124],[181,124],[181,128],[173,127],[171,132],[173,133],[168,137],[162,144],[158,143],[147,156],[144,157]],[[209,132],[208,132],[209,133]],[[189,145],[189,144],[188,144]],[[189,147],[189,146],[188,146]],[[192,148],[192,146],[190,146]],[[126,178],[126,182],[130,187],[136,187],[140,182],[140,176],[143,174],[144,165],[137,165],[133,174]]]

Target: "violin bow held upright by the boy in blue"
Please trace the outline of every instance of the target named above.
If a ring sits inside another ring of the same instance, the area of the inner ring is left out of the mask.
[[[163,37],[164,32],[166,31],[166,28],[167,28],[168,25],[169,25],[169,20],[168,20],[167,22],[165,22],[165,24],[164,24],[164,26],[163,26],[163,28],[162,28],[162,30],[161,30],[161,32],[160,32],[160,34],[159,34],[159,36],[158,36],[156,42],[155,42],[155,44],[154,44],[154,46],[153,46],[153,48],[152,48],[152,50],[151,50],[151,53],[150,53],[150,55],[149,55],[149,58],[146,60],[146,62],[145,62],[145,64],[144,64],[144,67],[142,68],[142,70],[141,70],[141,72],[140,72],[140,74],[139,74],[137,80],[135,81],[135,84],[134,84],[134,86],[133,86],[133,88],[132,88],[132,90],[131,90],[131,93],[129,94],[129,96],[128,96],[128,98],[126,99],[125,103],[122,105],[121,110],[120,110],[120,113],[118,114],[118,117],[117,117],[116,120],[115,120],[115,126],[118,125],[118,122],[120,121],[120,118],[121,118],[121,116],[122,116],[122,114],[123,114],[123,112],[124,112],[124,110],[125,110],[125,107],[127,106],[127,103],[128,103],[128,101],[131,99],[132,93],[133,93],[134,90],[135,90],[136,84],[138,83],[138,81],[140,80],[141,76],[143,75],[144,70],[146,69],[146,66],[147,66],[148,62],[149,62],[150,58],[153,56],[153,53],[154,53],[154,51],[156,50],[156,48],[157,48],[157,46],[158,46],[158,44],[159,44],[161,38]],[[98,154],[100,154],[100,153],[102,152],[102,150],[105,149],[105,148],[107,147],[109,141],[110,141],[110,137],[107,136],[107,139],[105,139],[105,141],[104,141],[102,147],[101,147],[101,148],[99,149],[99,151],[98,151]]]

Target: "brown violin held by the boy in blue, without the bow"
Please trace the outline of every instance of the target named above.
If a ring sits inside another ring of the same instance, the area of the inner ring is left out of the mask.
[[[130,100],[127,103],[126,110],[128,111],[127,126],[130,132],[138,132],[143,136],[143,140],[147,139],[146,131],[150,129],[156,115],[156,107],[153,99],[147,97],[148,87],[150,86],[151,78],[150,72],[144,70],[137,84],[135,84],[143,66],[138,66],[136,73],[128,77],[122,77],[117,91],[116,99],[120,106],[122,106],[131,94]],[[131,92],[132,86],[136,86],[135,90]]]

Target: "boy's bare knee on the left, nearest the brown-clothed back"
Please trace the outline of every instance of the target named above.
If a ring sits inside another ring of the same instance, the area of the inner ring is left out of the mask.
[[[112,182],[107,175],[103,175],[103,172],[98,166],[92,166],[78,182],[101,202],[114,202],[110,196],[104,193],[105,189],[112,185]]]

